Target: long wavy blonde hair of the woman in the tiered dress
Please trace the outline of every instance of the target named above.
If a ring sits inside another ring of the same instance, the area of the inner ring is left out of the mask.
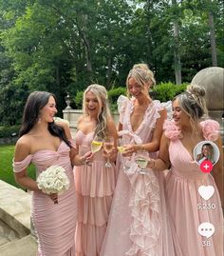
[[[91,91],[96,96],[100,104],[99,112],[97,115],[97,126],[95,128],[94,135],[105,137],[107,133],[107,119],[111,117],[110,109],[108,106],[108,100],[107,100],[108,98],[107,91],[103,86],[98,84],[90,85],[84,90],[84,99],[83,99],[84,116],[88,116],[88,113],[85,107],[86,93],[88,91]]]

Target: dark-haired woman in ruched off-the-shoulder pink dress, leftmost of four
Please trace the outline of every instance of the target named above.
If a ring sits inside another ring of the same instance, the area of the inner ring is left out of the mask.
[[[40,256],[75,255],[77,203],[70,151],[73,150],[72,162],[76,165],[84,164],[88,155],[79,157],[73,149],[68,126],[54,123],[56,113],[53,94],[34,91],[28,96],[13,160],[16,182],[32,190],[31,219],[38,237]],[[62,195],[48,195],[28,177],[30,163],[36,167],[37,177],[47,167],[64,167],[69,188]],[[54,204],[56,202],[58,204]]]

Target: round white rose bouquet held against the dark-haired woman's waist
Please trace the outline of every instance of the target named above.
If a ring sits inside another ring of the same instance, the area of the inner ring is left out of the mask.
[[[69,187],[65,168],[60,166],[47,167],[37,178],[37,186],[47,194],[62,194]],[[58,201],[55,202],[58,204]]]

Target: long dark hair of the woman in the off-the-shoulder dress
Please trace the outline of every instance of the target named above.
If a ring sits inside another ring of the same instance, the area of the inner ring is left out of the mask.
[[[47,105],[50,96],[54,97],[56,101],[55,95],[47,91],[33,91],[29,94],[24,108],[23,122],[19,131],[19,137],[27,134],[28,131],[37,124],[40,110]],[[50,134],[64,140],[65,144],[70,147],[70,143],[65,136],[64,128],[57,126],[55,122],[51,122],[48,123],[48,130]]]

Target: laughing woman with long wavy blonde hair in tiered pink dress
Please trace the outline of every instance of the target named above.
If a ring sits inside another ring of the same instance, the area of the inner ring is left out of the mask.
[[[84,91],[84,115],[78,122],[76,145],[82,155],[90,150],[96,136],[112,136],[116,146],[117,129],[111,118],[107,92],[103,86],[90,85]],[[116,153],[111,167],[105,167],[103,147],[93,155],[92,163],[75,167],[78,196],[76,256],[99,256],[116,185]]]

